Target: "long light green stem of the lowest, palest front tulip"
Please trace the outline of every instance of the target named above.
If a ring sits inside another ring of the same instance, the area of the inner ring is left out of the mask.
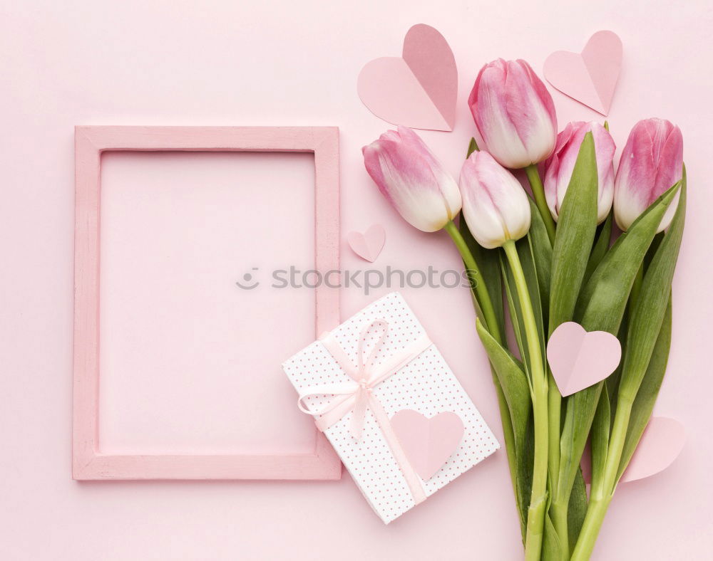
[[[503,243],[503,250],[510,263],[517,288],[520,308],[525,325],[525,337],[528,342],[530,355],[530,383],[533,398],[533,420],[535,432],[535,458],[533,463],[533,484],[528,509],[527,535],[525,536],[525,560],[538,561],[542,552],[543,528],[545,523],[545,510],[547,509],[547,468],[548,468],[548,416],[547,393],[548,381],[543,365],[542,351],[540,349],[540,334],[535,313],[530,301],[525,273],[520,263],[515,241],[508,240]]]

